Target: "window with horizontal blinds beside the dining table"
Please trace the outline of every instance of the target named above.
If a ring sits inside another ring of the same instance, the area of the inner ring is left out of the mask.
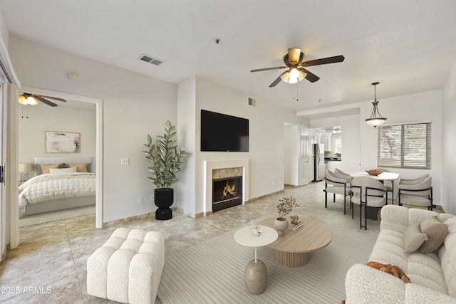
[[[378,166],[430,169],[431,122],[378,127]]]

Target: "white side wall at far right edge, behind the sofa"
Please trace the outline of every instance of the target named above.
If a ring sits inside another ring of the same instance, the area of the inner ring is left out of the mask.
[[[442,206],[456,214],[456,61],[442,90]]]

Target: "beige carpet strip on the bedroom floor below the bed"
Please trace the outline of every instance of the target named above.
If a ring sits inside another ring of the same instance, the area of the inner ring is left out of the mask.
[[[50,221],[59,221],[62,219],[70,219],[72,217],[83,216],[87,214],[95,214],[95,205],[61,211],[53,211],[44,214],[29,215],[22,219],[19,219],[19,227],[43,224]]]

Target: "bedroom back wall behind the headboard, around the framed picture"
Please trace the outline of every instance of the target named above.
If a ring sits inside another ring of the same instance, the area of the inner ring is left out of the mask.
[[[94,111],[50,107],[43,103],[33,106],[19,105],[19,163],[30,162],[34,157],[54,157],[45,153],[45,132],[78,132],[81,135],[81,152],[58,156],[90,156],[95,172],[95,106]],[[28,117],[28,118],[27,118]],[[33,172],[28,174],[33,177]]]

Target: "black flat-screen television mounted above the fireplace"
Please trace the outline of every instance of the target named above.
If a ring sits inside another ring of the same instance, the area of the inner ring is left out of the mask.
[[[201,151],[249,152],[249,120],[201,110]]]

